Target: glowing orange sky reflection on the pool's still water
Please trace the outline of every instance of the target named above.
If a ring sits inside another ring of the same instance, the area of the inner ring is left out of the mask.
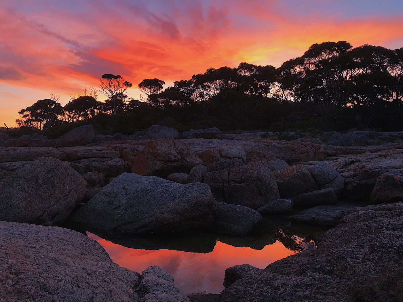
[[[98,241],[121,267],[139,273],[151,265],[164,268],[174,277],[175,284],[183,294],[199,291],[219,293],[224,289],[222,282],[228,267],[250,264],[264,269],[270,263],[296,253],[279,241],[266,245],[262,250],[217,241],[214,250],[206,254],[166,249],[141,250],[114,244],[89,232],[87,234]]]

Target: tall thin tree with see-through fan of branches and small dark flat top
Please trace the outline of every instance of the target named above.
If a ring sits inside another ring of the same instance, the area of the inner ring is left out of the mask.
[[[120,75],[104,74],[100,79],[99,92],[109,98],[112,103],[112,114],[117,114],[117,103],[121,101],[123,96],[126,96],[126,91],[133,85],[125,81]]]

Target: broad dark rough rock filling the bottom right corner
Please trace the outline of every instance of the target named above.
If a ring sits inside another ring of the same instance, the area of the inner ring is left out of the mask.
[[[400,301],[403,203],[355,208],[317,248],[226,270],[221,302]]]

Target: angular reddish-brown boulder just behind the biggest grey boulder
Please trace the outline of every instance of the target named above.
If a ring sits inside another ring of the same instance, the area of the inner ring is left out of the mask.
[[[202,163],[183,140],[152,139],[133,160],[132,172],[144,176],[166,177],[175,172],[189,173]]]

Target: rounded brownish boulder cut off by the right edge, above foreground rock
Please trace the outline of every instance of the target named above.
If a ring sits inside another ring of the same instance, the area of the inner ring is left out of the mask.
[[[386,170],[378,176],[370,203],[403,201],[403,169]]]

